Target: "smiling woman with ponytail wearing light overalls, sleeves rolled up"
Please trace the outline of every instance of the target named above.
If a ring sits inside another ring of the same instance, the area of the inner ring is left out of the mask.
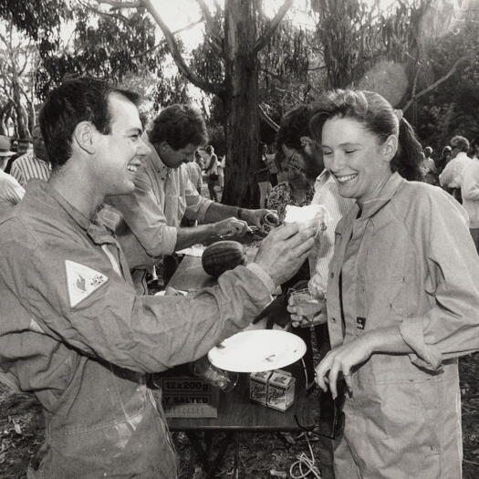
[[[329,266],[332,350],[317,381],[349,392],[338,479],[460,478],[457,357],[478,349],[479,259],[463,207],[420,178],[421,145],[379,94],[337,90],[311,120],[356,204]],[[289,307],[298,313],[293,305]]]

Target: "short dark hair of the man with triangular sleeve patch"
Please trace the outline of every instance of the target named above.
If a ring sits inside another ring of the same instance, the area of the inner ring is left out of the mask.
[[[40,111],[40,128],[53,169],[70,158],[73,131],[80,121],[91,121],[100,133],[109,134],[111,93],[122,95],[137,107],[140,103],[137,93],[90,77],[70,78],[48,94]]]

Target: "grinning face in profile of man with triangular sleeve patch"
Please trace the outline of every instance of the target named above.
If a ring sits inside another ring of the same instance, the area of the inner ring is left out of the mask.
[[[135,189],[134,179],[150,148],[141,140],[138,109],[118,93],[109,96],[110,132],[100,134],[95,159],[95,181],[103,194],[126,194]]]

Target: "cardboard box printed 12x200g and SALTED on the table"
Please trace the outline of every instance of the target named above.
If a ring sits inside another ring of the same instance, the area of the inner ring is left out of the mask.
[[[200,378],[161,378],[161,404],[168,418],[217,418],[219,398],[219,389]]]

